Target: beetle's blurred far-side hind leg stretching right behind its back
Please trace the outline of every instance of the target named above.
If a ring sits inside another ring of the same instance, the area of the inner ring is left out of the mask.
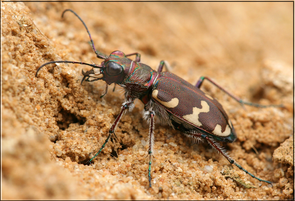
[[[228,94],[230,97],[232,97],[234,100],[236,100],[237,102],[239,102],[242,106],[243,105],[250,105],[253,107],[284,107],[284,105],[279,104],[279,105],[261,105],[258,103],[251,103],[251,102],[245,102],[243,101],[241,98],[236,97],[235,95],[231,94],[230,92],[228,92],[227,90],[225,90],[224,88],[222,88],[220,85],[218,85],[216,82],[214,82],[213,80],[211,80],[208,77],[200,77],[200,79],[198,80],[197,84],[195,85],[197,88],[200,88],[203,81],[204,80],[208,80],[209,82],[211,82],[213,85],[215,85],[218,89],[222,90],[223,92],[225,92],[225,94]]]

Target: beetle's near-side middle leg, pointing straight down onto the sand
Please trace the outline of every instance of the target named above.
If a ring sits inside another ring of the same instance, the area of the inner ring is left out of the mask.
[[[152,176],[151,176],[151,167],[152,167],[152,146],[154,144],[154,116],[155,113],[153,111],[146,111],[144,113],[144,118],[147,120],[149,120],[149,145],[148,145],[148,156],[150,158],[149,162],[148,162],[148,182],[149,182],[149,188],[152,187],[151,184],[151,180],[152,180]]]

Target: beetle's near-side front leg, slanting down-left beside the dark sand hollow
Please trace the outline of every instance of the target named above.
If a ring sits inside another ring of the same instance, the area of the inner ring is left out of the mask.
[[[111,138],[112,134],[115,135],[115,130],[116,127],[122,117],[122,115],[126,112],[126,109],[129,108],[129,111],[131,112],[132,109],[134,108],[134,103],[133,103],[134,99],[127,99],[126,102],[124,102],[122,104],[122,110],[120,112],[120,114],[117,116],[115,122],[113,123],[113,125],[111,126],[110,130],[109,130],[109,135],[107,136],[107,139],[105,140],[105,142],[102,144],[102,147],[99,149],[98,153],[96,153],[90,160],[89,163],[91,164],[91,161],[98,156],[98,154],[100,154],[102,152],[102,149],[106,146],[107,142],[109,141],[109,139]],[[116,136],[116,135],[115,135]]]

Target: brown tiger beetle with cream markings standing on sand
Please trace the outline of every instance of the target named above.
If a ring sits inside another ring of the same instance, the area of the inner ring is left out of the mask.
[[[40,66],[36,72],[48,64],[52,63],[73,63],[91,66],[90,71],[84,72],[82,82],[94,82],[103,80],[107,83],[104,94],[107,94],[108,85],[112,83],[118,84],[125,90],[125,102],[122,104],[121,112],[117,116],[115,122],[111,126],[107,139],[90,160],[93,161],[95,157],[102,152],[112,135],[115,135],[116,127],[127,109],[131,112],[134,108],[134,100],[138,98],[144,104],[143,118],[149,123],[149,146],[148,146],[148,181],[149,188],[151,185],[151,166],[152,153],[154,142],[154,117],[158,116],[162,125],[169,125],[172,128],[178,129],[184,133],[193,143],[197,141],[207,141],[212,148],[218,153],[222,154],[231,164],[234,164],[239,169],[243,170],[253,178],[269,183],[270,181],[262,180],[243,167],[238,165],[232,158],[229,157],[226,150],[220,146],[220,142],[232,143],[237,139],[237,134],[234,127],[225,113],[223,107],[218,101],[210,95],[204,93],[200,87],[204,80],[208,80],[241,105],[250,105],[254,107],[283,107],[282,105],[260,105],[256,103],[245,102],[242,99],[229,93],[227,90],[220,87],[213,80],[208,77],[201,76],[196,85],[191,85],[182,78],[174,75],[171,72],[162,72],[164,66],[167,68],[165,61],[161,61],[157,71],[152,70],[150,66],[140,63],[140,54],[124,54],[121,51],[114,51],[109,56],[98,52],[91,38],[90,32],[84,21],[72,10],[67,9],[63,11],[62,16],[66,11],[70,11],[79,18],[86,28],[92,48],[99,59],[104,61],[101,65],[88,64],[84,62],[73,61],[52,61]],[[129,56],[136,56],[135,60],[128,58]],[[116,135],[115,135],[116,136]]]

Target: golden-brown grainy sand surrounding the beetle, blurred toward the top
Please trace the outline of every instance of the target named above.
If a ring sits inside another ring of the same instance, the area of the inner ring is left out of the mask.
[[[237,131],[223,144],[249,172],[231,166],[206,143],[192,145],[156,125],[152,189],[147,189],[148,127],[139,101],[95,160],[120,112],[117,87],[104,98],[102,81],[83,83],[86,66],[100,63],[76,11],[103,53],[138,52],[156,69],[192,84],[213,78],[245,100],[284,104],[244,110],[205,81]],[[293,2],[27,2],[1,3],[2,199],[294,199]],[[207,172],[205,166],[213,171]],[[225,175],[225,173],[228,175]],[[237,179],[257,187],[247,189]]]

